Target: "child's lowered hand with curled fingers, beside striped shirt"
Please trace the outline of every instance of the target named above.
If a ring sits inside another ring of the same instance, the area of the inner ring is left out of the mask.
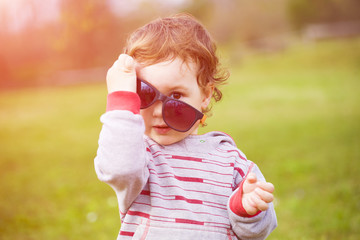
[[[274,185],[272,183],[260,182],[255,173],[249,173],[243,184],[243,208],[249,215],[254,215],[259,210],[267,210],[268,203],[274,200],[273,192]]]

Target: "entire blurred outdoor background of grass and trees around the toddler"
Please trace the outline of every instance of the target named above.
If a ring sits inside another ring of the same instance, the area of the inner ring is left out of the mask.
[[[269,239],[360,238],[360,1],[0,0],[0,239],[115,239],[93,159],[127,36],[189,12],[231,72],[200,132],[276,186]]]

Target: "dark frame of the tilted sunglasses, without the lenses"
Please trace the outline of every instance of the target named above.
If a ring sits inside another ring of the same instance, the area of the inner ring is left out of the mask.
[[[147,106],[143,107],[142,106],[142,103],[141,103],[141,107],[140,109],[145,109],[145,108],[148,108],[150,107],[151,105],[153,105],[155,102],[157,101],[161,101],[162,102],[162,113],[165,112],[165,106],[166,106],[166,103],[168,101],[175,101],[175,102],[180,102],[181,104],[184,104],[185,106],[193,109],[195,111],[195,118],[193,120],[193,122],[189,125],[188,128],[186,129],[178,129],[174,126],[171,126],[171,124],[168,123],[168,121],[165,119],[164,117],[164,114],[162,114],[163,116],[163,120],[164,122],[166,123],[166,125],[168,125],[170,128],[178,131],[178,132],[187,132],[189,131],[193,126],[194,124],[200,120],[200,123],[201,124],[204,124],[205,123],[205,120],[206,120],[206,115],[203,114],[202,112],[200,112],[199,110],[197,110],[196,108],[194,108],[193,106],[191,106],[190,104],[186,103],[186,102],[183,102],[181,100],[178,100],[178,99],[175,99],[175,98],[172,98],[172,97],[169,97],[169,96],[166,96],[164,94],[162,94],[157,88],[155,88],[153,85],[151,85],[149,82],[145,81],[145,80],[142,80],[142,79],[137,79],[137,88],[136,88],[136,92],[137,94],[140,96],[140,90],[141,90],[141,82],[143,82],[144,84],[148,85],[154,92],[155,92],[155,97],[154,99],[150,102],[150,104],[147,104]],[[141,97],[140,97],[141,99]]]

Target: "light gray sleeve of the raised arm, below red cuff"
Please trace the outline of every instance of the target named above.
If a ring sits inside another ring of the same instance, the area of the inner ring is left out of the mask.
[[[103,126],[95,171],[115,190],[119,208],[126,212],[149,176],[143,119],[130,111],[115,110],[103,114],[100,120]]]

